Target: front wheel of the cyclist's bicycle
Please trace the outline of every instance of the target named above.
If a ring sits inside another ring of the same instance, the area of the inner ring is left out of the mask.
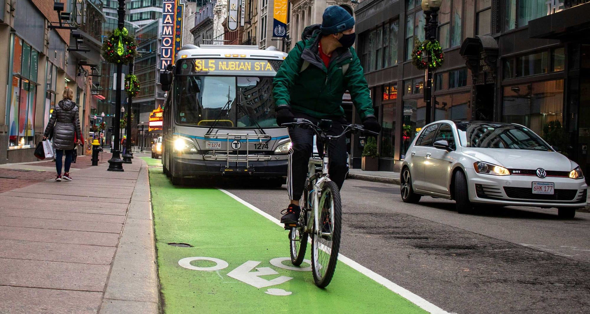
[[[312,236],[312,272],[316,286],[329,285],[340,250],[342,203],[336,183],[326,181],[319,199],[319,226],[314,223]]]

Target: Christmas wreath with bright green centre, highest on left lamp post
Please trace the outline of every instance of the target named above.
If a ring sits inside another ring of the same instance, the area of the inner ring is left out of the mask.
[[[107,62],[127,64],[135,58],[136,48],[137,41],[129,35],[127,28],[116,28],[103,42],[103,57]]]

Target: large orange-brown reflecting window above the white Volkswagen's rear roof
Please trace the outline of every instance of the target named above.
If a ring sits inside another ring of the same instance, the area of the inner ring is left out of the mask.
[[[563,80],[504,87],[503,120],[541,134],[550,121],[563,123]]]

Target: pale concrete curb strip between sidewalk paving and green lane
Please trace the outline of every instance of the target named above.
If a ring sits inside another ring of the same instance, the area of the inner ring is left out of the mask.
[[[148,164],[139,158],[135,161],[141,161],[142,167],[99,314],[161,312]]]

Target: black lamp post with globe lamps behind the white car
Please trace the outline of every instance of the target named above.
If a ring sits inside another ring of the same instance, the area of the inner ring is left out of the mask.
[[[425,15],[424,31],[426,32],[426,39],[434,41],[437,39],[438,30],[438,9],[441,7],[442,0],[422,0],[422,10]],[[432,60],[431,52],[428,53],[428,60]],[[426,124],[434,120],[434,106],[432,105],[432,70],[427,66],[426,68],[426,88],[424,90],[424,102],[426,103]]]

